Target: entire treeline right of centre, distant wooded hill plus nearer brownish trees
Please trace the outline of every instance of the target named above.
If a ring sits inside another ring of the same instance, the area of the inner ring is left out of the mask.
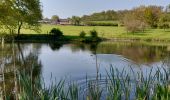
[[[144,31],[145,28],[170,28],[170,5],[139,6],[131,10],[108,10],[92,15],[84,15],[81,21],[90,26],[117,26],[115,23],[94,23],[94,21],[119,21],[127,31]]]

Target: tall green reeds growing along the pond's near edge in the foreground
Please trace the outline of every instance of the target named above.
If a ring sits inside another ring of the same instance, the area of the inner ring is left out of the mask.
[[[142,71],[131,73],[110,67],[107,72],[107,91],[103,91],[98,81],[87,81],[86,100],[169,100],[170,72],[166,68],[150,70],[145,77]],[[31,75],[32,76],[32,75]],[[66,86],[65,80],[52,82],[46,87],[40,77],[31,77],[25,72],[18,72],[19,100],[80,100],[80,87],[74,82]],[[133,76],[133,77],[132,77]],[[106,93],[106,95],[103,94]],[[7,96],[9,97],[9,96]]]

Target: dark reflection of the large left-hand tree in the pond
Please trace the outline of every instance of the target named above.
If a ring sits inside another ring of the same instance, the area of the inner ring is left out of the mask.
[[[1,51],[1,60],[3,59],[1,69],[4,67],[4,80],[0,82],[0,87],[5,91],[4,94],[12,96],[13,92],[16,91],[16,70],[25,71],[29,75],[32,74],[33,79],[34,77],[41,76],[42,65],[38,60],[36,48],[33,48],[31,52],[25,54],[23,52],[27,50],[27,47],[15,44],[13,49],[15,51],[14,55],[12,53],[12,44],[6,44],[4,48],[1,48],[1,50],[3,50]],[[2,74],[2,70],[0,73]]]

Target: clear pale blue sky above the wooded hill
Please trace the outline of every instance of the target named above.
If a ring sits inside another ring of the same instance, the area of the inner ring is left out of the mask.
[[[106,10],[132,9],[140,5],[167,6],[170,0],[40,0],[43,16],[58,15],[68,18],[73,15],[89,15]]]

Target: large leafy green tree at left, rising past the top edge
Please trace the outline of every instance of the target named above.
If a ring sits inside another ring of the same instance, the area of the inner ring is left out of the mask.
[[[37,30],[38,21],[42,19],[39,0],[3,0],[0,2],[0,23],[10,30],[17,29],[18,35],[21,28]],[[24,27],[23,27],[24,26]]]

